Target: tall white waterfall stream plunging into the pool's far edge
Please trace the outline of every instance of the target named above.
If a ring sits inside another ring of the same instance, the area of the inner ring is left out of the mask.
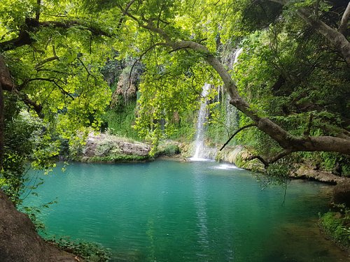
[[[210,85],[204,84],[202,89],[202,97],[206,97],[209,91]],[[195,140],[195,154],[193,157],[190,158],[192,161],[203,161],[205,160],[205,154],[203,154],[206,150],[206,147],[204,145],[204,135],[205,135],[205,129],[204,129],[204,123],[207,118],[207,98],[201,101],[200,104],[200,111],[198,112],[198,119],[197,119],[197,133],[196,133],[196,140]]]

